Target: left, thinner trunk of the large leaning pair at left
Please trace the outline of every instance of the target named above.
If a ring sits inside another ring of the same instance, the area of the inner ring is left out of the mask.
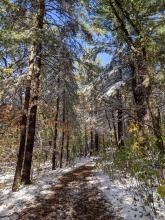
[[[18,190],[19,185],[21,183],[21,174],[22,174],[22,167],[24,161],[25,144],[26,144],[26,127],[27,127],[28,109],[29,109],[29,101],[30,101],[31,77],[34,69],[34,50],[35,50],[35,45],[32,45],[30,50],[29,73],[27,76],[24,109],[20,121],[20,145],[19,145],[15,176],[12,186],[13,192]]]

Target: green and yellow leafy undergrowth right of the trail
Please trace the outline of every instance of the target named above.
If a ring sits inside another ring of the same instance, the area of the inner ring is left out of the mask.
[[[141,200],[145,211],[149,207],[156,215],[157,208],[165,203],[165,158],[160,157],[154,139],[150,138],[144,153],[140,149],[138,138],[131,136],[123,148],[109,147],[106,152],[101,152],[97,166],[112,181],[127,184],[129,180],[134,203]]]

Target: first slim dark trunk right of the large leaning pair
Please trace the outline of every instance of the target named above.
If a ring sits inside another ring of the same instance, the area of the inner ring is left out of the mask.
[[[58,79],[58,88],[59,88],[59,79]],[[55,113],[55,123],[54,123],[54,140],[53,140],[53,155],[52,155],[52,170],[56,168],[56,148],[57,148],[57,135],[58,135],[58,116],[59,116],[59,106],[60,97],[59,94],[56,100],[56,113]]]

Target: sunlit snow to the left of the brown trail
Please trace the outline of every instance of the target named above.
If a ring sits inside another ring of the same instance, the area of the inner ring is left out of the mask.
[[[51,184],[57,183],[61,175],[88,163],[92,164],[91,159],[81,157],[80,159],[76,159],[72,167],[57,168],[53,171],[51,170],[51,164],[47,163],[42,166],[43,170],[38,175],[36,172],[34,173],[34,183],[21,187],[18,192],[11,191],[12,174],[7,175],[7,179],[6,176],[0,176],[2,182],[6,182],[7,180],[9,182],[6,188],[0,190],[0,219],[16,219],[14,213],[23,210],[28,203],[32,203],[37,196],[50,195],[52,193],[49,190]]]

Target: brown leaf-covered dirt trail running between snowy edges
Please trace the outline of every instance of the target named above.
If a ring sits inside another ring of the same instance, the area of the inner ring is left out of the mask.
[[[92,184],[93,167],[84,165],[60,177],[50,187],[51,193],[40,195],[19,214],[24,220],[116,220],[111,204]]]

